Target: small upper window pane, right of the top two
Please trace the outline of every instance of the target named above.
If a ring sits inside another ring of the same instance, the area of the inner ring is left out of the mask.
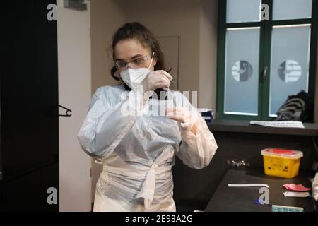
[[[273,20],[312,17],[312,0],[274,0]]]

